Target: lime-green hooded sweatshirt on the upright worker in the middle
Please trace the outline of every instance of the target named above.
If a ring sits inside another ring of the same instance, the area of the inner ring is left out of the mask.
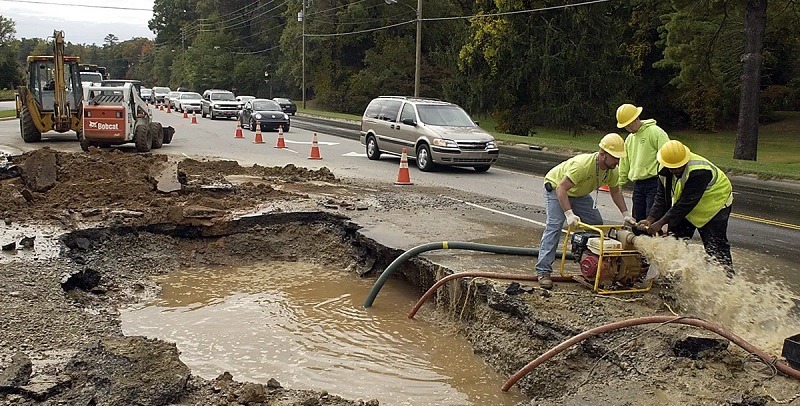
[[[642,120],[642,126],[625,138],[627,155],[619,160],[619,184],[658,176],[656,154],[669,137],[656,120]]]

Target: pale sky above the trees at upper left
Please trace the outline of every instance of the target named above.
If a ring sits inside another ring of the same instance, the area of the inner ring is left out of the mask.
[[[55,30],[73,44],[102,45],[108,34],[155,38],[147,28],[153,0],[0,0],[0,15],[14,20],[17,39],[52,37]]]

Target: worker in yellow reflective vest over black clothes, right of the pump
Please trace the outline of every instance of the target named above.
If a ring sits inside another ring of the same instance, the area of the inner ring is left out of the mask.
[[[685,239],[692,238],[697,229],[706,253],[725,268],[728,276],[733,276],[727,235],[733,203],[730,180],[680,141],[664,144],[657,159],[663,169],[658,173],[656,201],[639,226],[655,235],[666,225],[670,234]]]

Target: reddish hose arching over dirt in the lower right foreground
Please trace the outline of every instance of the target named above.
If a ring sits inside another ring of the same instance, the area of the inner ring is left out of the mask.
[[[638,326],[638,325],[641,325],[641,324],[656,324],[656,323],[660,323],[660,324],[666,324],[666,323],[686,324],[686,325],[689,325],[689,326],[701,327],[701,328],[704,328],[706,330],[713,331],[713,332],[721,335],[722,337],[727,338],[728,340],[730,340],[734,344],[738,345],[739,347],[742,347],[745,351],[747,351],[747,352],[749,352],[751,354],[754,354],[757,357],[761,358],[762,361],[764,361],[764,362],[766,362],[766,363],[768,363],[770,365],[775,365],[775,368],[777,368],[779,371],[783,372],[784,374],[786,374],[786,375],[788,375],[788,376],[790,376],[792,378],[800,380],[800,371],[790,367],[785,362],[782,362],[782,361],[779,361],[777,359],[771,358],[764,351],[756,348],[754,345],[748,343],[747,341],[745,341],[741,337],[737,336],[736,334],[733,334],[731,332],[726,331],[725,329],[723,329],[722,327],[720,327],[720,326],[718,326],[716,324],[709,323],[709,322],[707,322],[707,321],[705,321],[703,319],[698,319],[698,318],[694,318],[694,317],[648,316],[648,317],[637,317],[637,318],[628,319],[628,320],[616,321],[616,322],[613,322],[613,323],[604,324],[604,325],[602,325],[600,327],[595,327],[595,328],[593,328],[591,330],[584,331],[583,333],[580,333],[580,334],[570,338],[569,340],[564,341],[561,344],[551,348],[549,351],[545,352],[544,354],[540,355],[535,360],[533,360],[530,363],[528,363],[528,365],[525,365],[524,367],[522,367],[522,369],[520,369],[517,373],[515,373],[510,378],[508,378],[508,381],[506,381],[506,383],[503,384],[503,387],[500,388],[500,389],[503,392],[508,391],[512,386],[514,386],[515,383],[517,383],[517,381],[522,379],[522,377],[527,375],[529,372],[533,371],[534,368],[536,368],[537,366],[541,365],[542,363],[544,363],[545,361],[549,360],[550,358],[553,358],[554,356],[558,355],[559,353],[561,353],[562,351],[566,350],[567,348],[569,348],[569,347],[571,347],[571,346],[573,346],[573,345],[575,345],[575,344],[577,344],[577,343],[579,343],[579,342],[581,342],[581,341],[583,341],[583,340],[585,340],[585,339],[587,339],[589,337],[592,337],[592,336],[595,336],[595,335],[599,335],[599,334],[602,334],[602,333],[607,333],[607,332],[614,331],[614,330],[618,330],[618,329],[625,328],[625,327]]]

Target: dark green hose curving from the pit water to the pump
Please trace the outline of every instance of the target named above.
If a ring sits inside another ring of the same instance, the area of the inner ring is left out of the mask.
[[[441,249],[460,249],[460,250],[470,250],[470,251],[482,251],[482,252],[491,252],[495,254],[505,254],[505,255],[523,255],[523,256],[532,256],[536,257],[539,256],[539,250],[536,248],[524,248],[524,247],[511,247],[507,245],[491,245],[491,244],[480,244],[475,242],[464,242],[464,241],[442,241],[442,242],[431,242],[427,244],[418,245],[410,250],[404,252],[402,255],[397,257],[388,267],[386,270],[383,271],[378,280],[375,281],[375,285],[372,286],[372,290],[370,290],[369,295],[367,295],[367,299],[364,301],[364,307],[369,308],[372,307],[372,303],[375,301],[375,297],[378,296],[378,292],[380,292],[383,285],[386,281],[394,274],[397,268],[400,267],[403,263],[408,261],[411,257],[416,256],[422,252],[432,251],[432,250],[441,250]],[[556,252],[556,257],[562,255],[560,252]],[[568,259],[572,259],[572,254],[567,254]]]

